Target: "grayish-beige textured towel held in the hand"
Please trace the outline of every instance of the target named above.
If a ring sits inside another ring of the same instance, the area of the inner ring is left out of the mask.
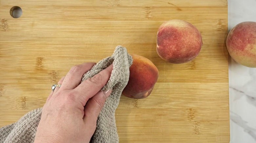
[[[117,143],[118,135],[115,121],[115,110],[120,100],[121,93],[129,80],[129,67],[132,57],[125,47],[117,46],[114,54],[99,61],[90,71],[85,73],[82,81],[93,77],[113,63],[113,71],[108,83],[102,88],[113,88],[101,110],[92,137],[93,143]],[[35,109],[17,122],[0,128],[0,143],[33,143],[36,128],[41,118],[42,108]]]

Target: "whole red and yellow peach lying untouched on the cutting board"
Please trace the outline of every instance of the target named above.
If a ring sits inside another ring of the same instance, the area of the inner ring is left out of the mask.
[[[157,53],[170,63],[185,63],[196,58],[203,45],[197,28],[183,20],[169,20],[157,33]]]

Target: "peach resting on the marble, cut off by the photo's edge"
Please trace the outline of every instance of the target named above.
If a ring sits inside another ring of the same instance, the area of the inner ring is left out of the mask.
[[[226,46],[236,62],[256,68],[256,22],[237,24],[228,33]]]

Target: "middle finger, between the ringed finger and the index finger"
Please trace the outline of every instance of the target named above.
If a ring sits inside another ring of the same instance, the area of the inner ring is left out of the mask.
[[[77,87],[82,79],[82,76],[84,73],[87,71],[91,70],[91,68],[95,65],[96,63],[83,63],[81,65],[76,65],[72,67],[69,72],[67,73],[61,87],[63,89],[74,89]]]

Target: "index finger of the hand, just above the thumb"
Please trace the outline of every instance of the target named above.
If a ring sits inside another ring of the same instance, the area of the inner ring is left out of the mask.
[[[76,87],[75,91],[78,92],[78,94],[75,94],[75,98],[78,99],[78,102],[82,103],[84,106],[91,97],[93,97],[103,86],[105,86],[110,78],[112,69],[113,64],[100,71],[92,78],[84,80],[78,87]]]

